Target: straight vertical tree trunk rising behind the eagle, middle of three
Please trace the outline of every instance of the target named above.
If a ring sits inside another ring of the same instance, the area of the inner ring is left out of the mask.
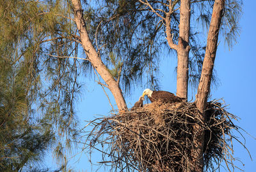
[[[177,50],[177,96],[188,99],[190,0],[180,0],[179,45]]]

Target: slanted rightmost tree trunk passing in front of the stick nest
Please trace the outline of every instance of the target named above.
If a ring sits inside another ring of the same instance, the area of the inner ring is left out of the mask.
[[[207,105],[207,97],[210,92],[212,69],[214,66],[214,59],[216,57],[216,50],[218,45],[218,35],[220,31],[221,18],[223,16],[223,8],[225,6],[225,0],[216,0],[212,9],[211,24],[209,27],[207,37],[207,47],[205,50],[205,57],[202,66],[202,73],[198,90],[196,94],[196,107],[200,111],[198,118],[205,122],[205,107]],[[204,170],[203,164],[203,148],[204,148],[204,128],[200,125],[194,126],[195,136],[195,150],[193,152],[193,164],[195,169],[192,171],[202,172]]]

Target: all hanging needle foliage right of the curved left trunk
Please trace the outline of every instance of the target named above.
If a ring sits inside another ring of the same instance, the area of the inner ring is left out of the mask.
[[[148,78],[147,87],[157,88],[158,62],[162,60],[163,48],[170,49],[165,39],[164,21],[138,1],[96,2],[86,3],[83,6],[90,38],[106,64],[111,66],[109,53],[114,53],[118,61],[123,62],[120,76],[122,90],[129,94],[131,85],[145,83],[143,78]],[[170,26],[173,41],[177,44],[180,1],[172,1],[172,4]],[[200,79],[213,4],[212,0],[191,1],[189,83],[192,90],[196,89]],[[165,17],[164,11],[168,11],[166,1],[151,1],[150,5],[154,9],[160,9],[156,11]],[[221,33],[229,47],[236,42],[239,34],[238,21],[241,16],[241,5],[240,0],[229,0],[225,5]],[[200,31],[201,28],[204,30]],[[212,81],[215,86],[219,84],[216,71]]]

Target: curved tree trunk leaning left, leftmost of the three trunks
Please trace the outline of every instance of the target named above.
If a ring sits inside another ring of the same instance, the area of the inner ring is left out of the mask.
[[[112,92],[118,110],[124,110],[127,108],[122,91],[116,80],[113,78],[111,73],[109,73],[107,67],[101,61],[97,51],[92,45],[88,32],[86,30],[86,24],[83,18],[83,10],[81,7],[80,0],[72,0],[73,10],[74,10],[74,20],[76,21],[77,29],[79,29],[79,34],[81,38],[81,44],[86,52],[88,60],[92,63],[93,68],[97,70],[99,75],[102,77],[108,89]]]

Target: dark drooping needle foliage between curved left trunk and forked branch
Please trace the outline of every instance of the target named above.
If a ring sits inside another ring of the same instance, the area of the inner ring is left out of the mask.
[[[138,1],[93,1],[83,8],[90,38],[115,78],[122,64],[120,87],[124,94],[145,82],[147,87],[157,88],[155,76],[165,39],[157,17],[142,10]],[[115,54],[119,66],[109,54]]]

